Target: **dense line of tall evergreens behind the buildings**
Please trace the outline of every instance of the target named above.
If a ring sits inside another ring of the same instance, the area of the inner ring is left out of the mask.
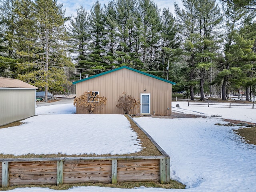
[[[249,100],[256,86],[254,1],[182,3],[174,3],[174,16],[152,0],[96,1],[67,18],[56,0],[0,0],[0,76],[61,91],[80,76],[125,65],[177,82],[173,90],[191,100],[226,100],[242,89]]]

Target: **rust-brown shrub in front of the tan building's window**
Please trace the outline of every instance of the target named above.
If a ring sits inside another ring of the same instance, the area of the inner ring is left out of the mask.
[[[87,110],[89,114],[94,112],[95,107],[105,105],[107,98],[100,97],[96,92],[84,92],[80,97],[74,99],[74,106],[81,110]]]

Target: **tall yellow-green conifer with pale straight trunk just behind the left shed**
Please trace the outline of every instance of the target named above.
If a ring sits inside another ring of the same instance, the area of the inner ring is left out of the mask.
[[[64,28],[64,11],[56,0],[35,0],[36,42],[33,44],[30,63],[17,64],[18,70],[24,71],[24,66],[33,68],[18,78],[38,86],[45,91],[45,101],[48,100],[48,89],[59,90],[58,82],[67,82],[63,67],[70,65],[66,57],[66,32]]]

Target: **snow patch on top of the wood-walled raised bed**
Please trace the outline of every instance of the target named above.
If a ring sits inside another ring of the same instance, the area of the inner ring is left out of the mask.
[[[114,155],[141,149],[136,132],[123,115],[38,115],[22,122],[25,124],[0,129],[0,153]]]

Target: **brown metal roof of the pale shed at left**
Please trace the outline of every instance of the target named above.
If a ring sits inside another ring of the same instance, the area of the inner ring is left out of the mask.
[[[25,83],[18,79],[0,77],[0,88],[26,88],[26,89],[38,89],[37,87]]]

